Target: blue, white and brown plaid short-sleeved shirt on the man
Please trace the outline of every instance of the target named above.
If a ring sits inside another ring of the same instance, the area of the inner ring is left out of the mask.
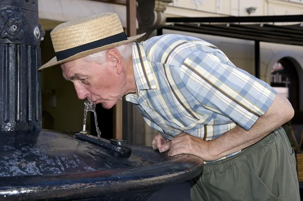
[[[169,140],[181,132],[213,140],[236,125],[249,130],[276,96],[268,84],[198,38],[153,37],[133,43],[132,56],[137,93],[125,99]]]

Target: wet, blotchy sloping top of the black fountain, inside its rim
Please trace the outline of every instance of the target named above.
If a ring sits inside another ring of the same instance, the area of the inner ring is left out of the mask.
[[[0,177],[92,172],[150,164],[139,156],[124,157],[54,131],[1,135],[4,138],[0,141]]]

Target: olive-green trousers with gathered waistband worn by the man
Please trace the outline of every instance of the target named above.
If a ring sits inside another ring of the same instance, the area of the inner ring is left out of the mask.
[[[294,151],[282,128],[191,180],[192,201],[299,201]]]

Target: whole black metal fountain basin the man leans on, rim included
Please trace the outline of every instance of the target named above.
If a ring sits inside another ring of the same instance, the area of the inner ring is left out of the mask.
[[[169,157],[151,147],[132,146],[124,157],[54,131],[3,135],[0,200],[148,200],[203,170],[196,156]]]

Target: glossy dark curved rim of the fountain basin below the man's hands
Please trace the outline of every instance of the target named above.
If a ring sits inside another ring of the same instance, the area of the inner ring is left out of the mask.
[[[162,154],[167,155],[167,152]],[[0,200],[72,199],[142,188],[160,188],[189,180],[202,171],[201,158],[180,154],[161,163],[133,168],[0,177],[3,181],[0,184]],[[25,195],[26,198],[23,199]]]

